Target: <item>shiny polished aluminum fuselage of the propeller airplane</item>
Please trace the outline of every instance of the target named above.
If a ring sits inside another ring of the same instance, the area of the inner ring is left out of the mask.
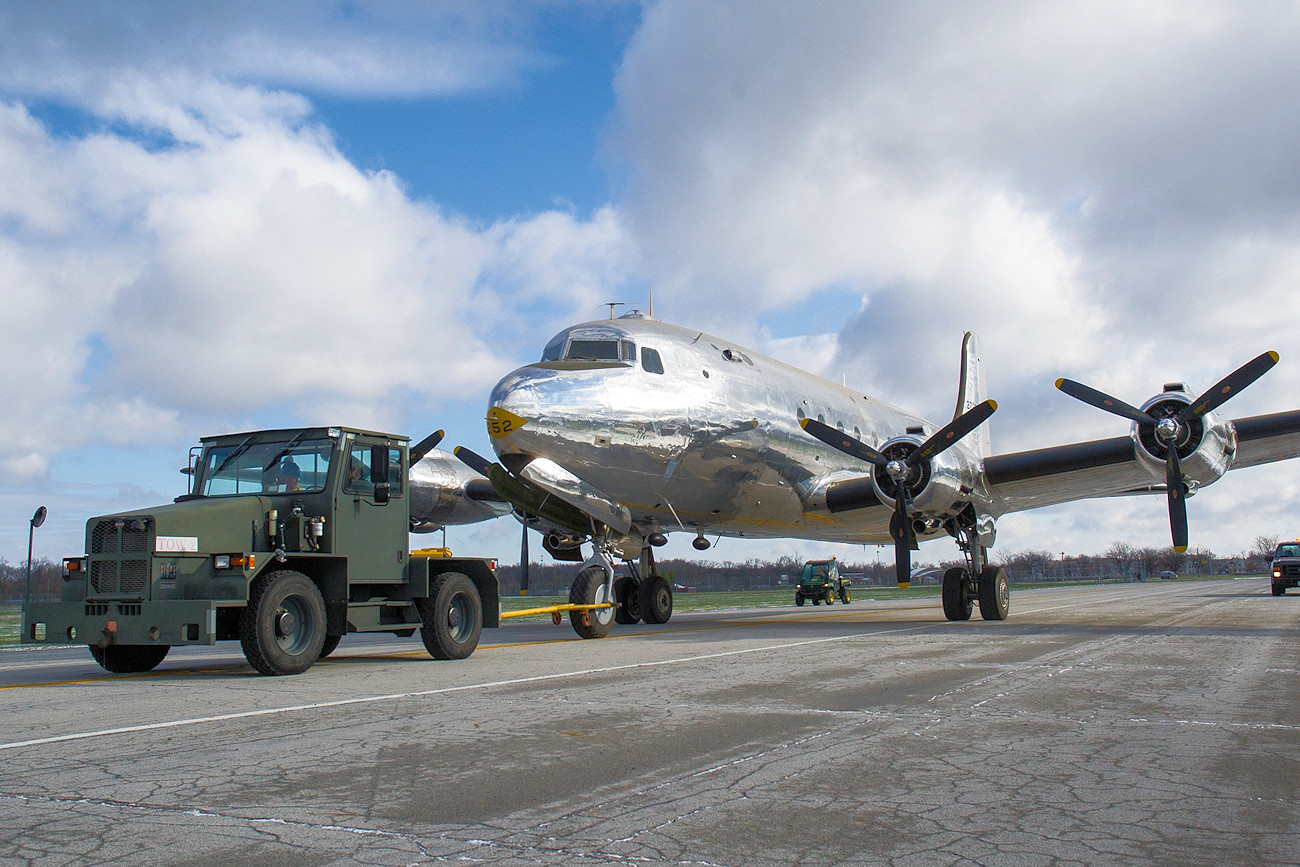
[[[490,408],[526,420],[495,435],[503,458],[547,458],[612,500],[642,533],[796,537],[828,542],[890,539],[892,502],[832,512],[827,489],[867,480],[871,467],[800,428],[838,425],[880,446],[935,425],[897,407],[696,330],[649,318],[575,325],[551,341],[621,341],[634,360],[529,364],[493,390]],[[646,363],[658,354],[662,373]],[[556,354],[560,354],[556,351]],[[647,369],[647,367],[650,369]],[[498,432],[499,433],[499,432]],[[979,455],[958,443],[935,459],[936,476],[975,489]],[[915,503],[940,515],[952,502]],[[962,504],[971,499],[963,494]]]

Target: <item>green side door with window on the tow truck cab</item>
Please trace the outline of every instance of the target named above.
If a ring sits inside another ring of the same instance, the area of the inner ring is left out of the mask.
[[[347,443],[334,508],[334,551],[350,581],[402,581],[410,517],[404,450],[358,437]]]

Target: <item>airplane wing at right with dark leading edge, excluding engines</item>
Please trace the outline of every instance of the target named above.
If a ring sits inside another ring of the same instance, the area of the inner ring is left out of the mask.
[[[1300,458],[1300,411],[1238,419],[1232,426],[1231,469]],[[1165,490],[1139,463],[1131,437],[993,455],[984,460],[984,478],[1006,512]]]

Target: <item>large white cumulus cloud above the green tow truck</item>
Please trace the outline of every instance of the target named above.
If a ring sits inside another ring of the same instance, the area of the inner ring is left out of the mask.
[[[0,109],[10,478],[264,409],[393,424],[411,399],[486,394],[515,309],[627,266],[611,212],[476,226],[358,170],[299,97],[183,77],[105,92],[127,131],[58,138]]]

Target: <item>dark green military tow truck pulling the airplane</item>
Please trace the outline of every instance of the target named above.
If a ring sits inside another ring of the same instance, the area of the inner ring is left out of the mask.
[[[22,608],[27,643],[86,645],[110,672],[177,645],[239,641],[264,675],[296,675],[350,632],[464,659],[500,625],[494,563],[408,551],[410,443],[356,428],[205,437],[174,503],[92,517],[58,602]]]

